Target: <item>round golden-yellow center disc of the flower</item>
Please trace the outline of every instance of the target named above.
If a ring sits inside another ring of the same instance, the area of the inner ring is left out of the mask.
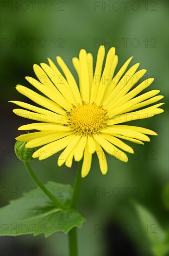
[[[78,135],[98,134],[101,129],[106,128],[106,111],[102,106],[86,104],[73,106],[69,115],[69,126]]]

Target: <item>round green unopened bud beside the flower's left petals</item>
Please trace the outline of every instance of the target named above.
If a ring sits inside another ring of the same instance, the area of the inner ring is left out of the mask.
[[[32,155],[35,151],[38,150],[38,148],[25,148],[26,143],[27,142],[24,141],[16,141],[14,150],[19,160],[24,162],[30,162],[34,159]]]

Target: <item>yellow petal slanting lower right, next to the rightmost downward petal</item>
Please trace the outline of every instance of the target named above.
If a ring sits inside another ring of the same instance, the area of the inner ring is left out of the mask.
[[[128,162],[127,155],[121,151],[120,149],[116,148],[113,144],[111,144],[109,141],[106,141],[101,135],[94,135],[94,139],[100,144],[104,150],[114,157],[118,158],[119,160],[123,162]]]

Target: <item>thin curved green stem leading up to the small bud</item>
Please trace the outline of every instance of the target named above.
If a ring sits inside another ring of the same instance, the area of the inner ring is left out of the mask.
[[[44,191],[44,193],[50,198],[50,200],[54,203],[54,205],[57,208],[66,209],[66,206],[62,202],[57,200],[57,198],[53,196],[52,193],[50,193],[50,191],[44,186],[44,184],[41,181],[39,181],[37,175],[32,170],[29,162],[24,162],[24,164],[28,173],[31,175],[32,179],[34,180],[34,182],[38,185],[40,189],[42,189],[42,191]]]

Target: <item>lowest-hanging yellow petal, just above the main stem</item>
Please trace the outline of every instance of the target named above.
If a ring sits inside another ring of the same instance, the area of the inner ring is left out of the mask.
[[[92,154],[88,151],[88,143],[86,143],[84,150],[84,159],[81,168],[81,177],[84,178],[88,175],[92,164]]]

